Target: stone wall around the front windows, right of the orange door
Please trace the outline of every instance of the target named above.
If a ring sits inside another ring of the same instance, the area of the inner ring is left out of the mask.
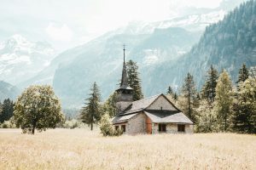
[[[157,134],[158,131],[158,124],[153,123],[152,124],[152,134]],[[177,124],[166,124],[166,133],[183,133],[183,132],[177,132]],[[193,125],[186,124],[185,125],[185,132],[184,133],[193,133]]]

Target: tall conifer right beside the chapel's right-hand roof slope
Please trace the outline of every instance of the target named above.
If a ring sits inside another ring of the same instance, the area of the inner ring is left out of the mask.
[[[193,76],[189,73],[185,77],[183,82],[182,94],[179,97],[178,105],[183,110],[183,112],[189,116],[189,118],[196,122],[195,120],[195,105],[196,105],[196,89]]]

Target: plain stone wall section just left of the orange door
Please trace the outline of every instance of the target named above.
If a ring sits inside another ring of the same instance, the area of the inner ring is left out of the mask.
[[[131,117],[129,122],[126,124],[126,133],[127,134],[138,134],[138,133],[147,133],[146,127],[146,115],[143,113],[137,114],[137,116]]]

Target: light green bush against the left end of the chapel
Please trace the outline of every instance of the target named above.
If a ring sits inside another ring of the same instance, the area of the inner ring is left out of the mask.
[[[103,136],[119,136],[123,133],[122,130],[120,129],[115,130],[113,128],[113,125],[112,125],[112,122],[110,121],[110,117],[108,113],[102,116],[102,119],[100,121],[100,130]]]

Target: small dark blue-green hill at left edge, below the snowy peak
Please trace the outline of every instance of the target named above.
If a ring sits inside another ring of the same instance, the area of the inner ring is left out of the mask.
[[[20,94],[20,90],[8,82],[0,81],[0,101],[3,99],[16,99]]]

